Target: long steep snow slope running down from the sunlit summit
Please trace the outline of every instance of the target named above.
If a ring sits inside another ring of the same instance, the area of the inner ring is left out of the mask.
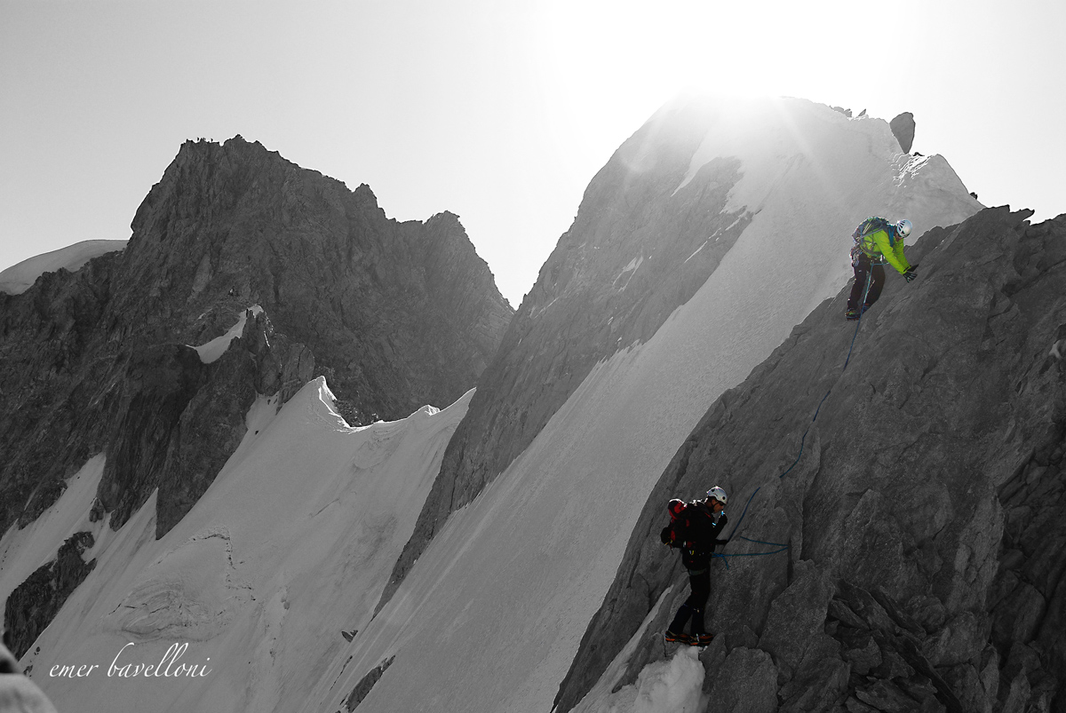
[[[336,711],[384,662],[360,711],[550,710],[651,486],[713,400],[845,283],[855,225],[906,216],[918,234],[978,210],[943,159],[901,153],[885,121],[790,99],[718,111],[692,172],[739,156],[733,200],[755,218],[650,341],[594,369],[449,519],[303,710]]]

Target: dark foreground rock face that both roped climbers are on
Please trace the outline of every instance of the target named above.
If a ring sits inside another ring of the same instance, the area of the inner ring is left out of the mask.
[[[688,596],[658,540],[665,504],[714,484],[739,528],[712,568],[701,657],[723,710],[1066,710],[1066,217],[1029,215],[930,231],[908,248],[918,280],[890,275],[857,337],[845,287],[710,407],[556,710],[666,597],[621,683],[662,657],[657,632]]]

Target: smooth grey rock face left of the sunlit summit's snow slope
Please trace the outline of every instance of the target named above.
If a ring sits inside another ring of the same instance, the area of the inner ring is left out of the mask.
[[[661,113],[591,182],[479,380],[378,606],[448,516],[529,445],[598,361],[650,338],[750,223],[725,211],[734,160],[710,162],[677,190],[707,131],[701,112]]]

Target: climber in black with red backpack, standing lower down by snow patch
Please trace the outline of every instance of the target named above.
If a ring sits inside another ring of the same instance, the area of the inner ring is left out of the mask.
[[[671,523],[663,528],[659,537],[664,545],[680,548],[681,564],[689,570],[689,585],[692,589],[677,611],[674,621],[666,629],[667,642],[681,642],[696,646],[707,646],[713,634],[704,628],[704,609],[711,595],[711,553],[716,545],[726,545],[728,539],[718,539],[726,526],[726,491],[714,486],[707,491],[707,498],[684,503],[672,500],[667,505]],[[690,623],[692,635],[683,633]]]

